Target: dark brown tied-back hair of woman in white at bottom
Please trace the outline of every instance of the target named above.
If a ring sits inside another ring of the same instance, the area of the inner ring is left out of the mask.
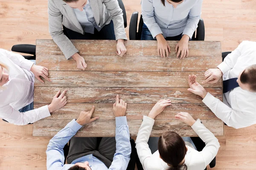
[[[186,155],[186,144],[175,132],[164,132],[158,140],[161,159],[170,165],[168,170],[187,170],[186,164],[179,165]]]

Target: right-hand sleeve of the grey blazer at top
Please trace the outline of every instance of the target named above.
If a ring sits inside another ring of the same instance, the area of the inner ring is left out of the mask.
[[[124,26],[123,12],[120,8],[117,0],[103,0],[106,9],[109,11],[111,18],[114,23],[114,31],[116,40],[123,39],[127,40]]]

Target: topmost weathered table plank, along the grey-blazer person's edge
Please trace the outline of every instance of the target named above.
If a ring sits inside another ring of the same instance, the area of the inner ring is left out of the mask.
[[[71,40],[81,55],[110,56],[116,55],[115,40]],[[177,41],[168,41],[171,53],[175,56]],[[129,40],[125,41],[127,56],[158,56],[157,41]],[[36,40],[36,55],[63,55],[53,40]],[[221,56],[219,41],[189,41],[189,56]]]

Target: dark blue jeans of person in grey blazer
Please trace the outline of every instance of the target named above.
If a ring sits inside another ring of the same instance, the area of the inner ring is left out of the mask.
[[[116,40],[115,32],[114,32],[114,24],[113,21],[108,25],[105,25],[102,27],[100,31],[98,31],[96,28],[94,28],[94,34],[90,34],[85,32],[84,34],[80,34],[79,32],[73,31],[71,29],[68,29],[63,26],[63,29],[65,29],[64,34],[70,39],[70,40]]]

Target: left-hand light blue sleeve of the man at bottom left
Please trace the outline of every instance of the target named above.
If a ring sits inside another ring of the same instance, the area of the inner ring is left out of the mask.
[[[46,150],[47,170],[60,170],[64,166],[64,146],[82,126],[73,119],[49,142]]]

